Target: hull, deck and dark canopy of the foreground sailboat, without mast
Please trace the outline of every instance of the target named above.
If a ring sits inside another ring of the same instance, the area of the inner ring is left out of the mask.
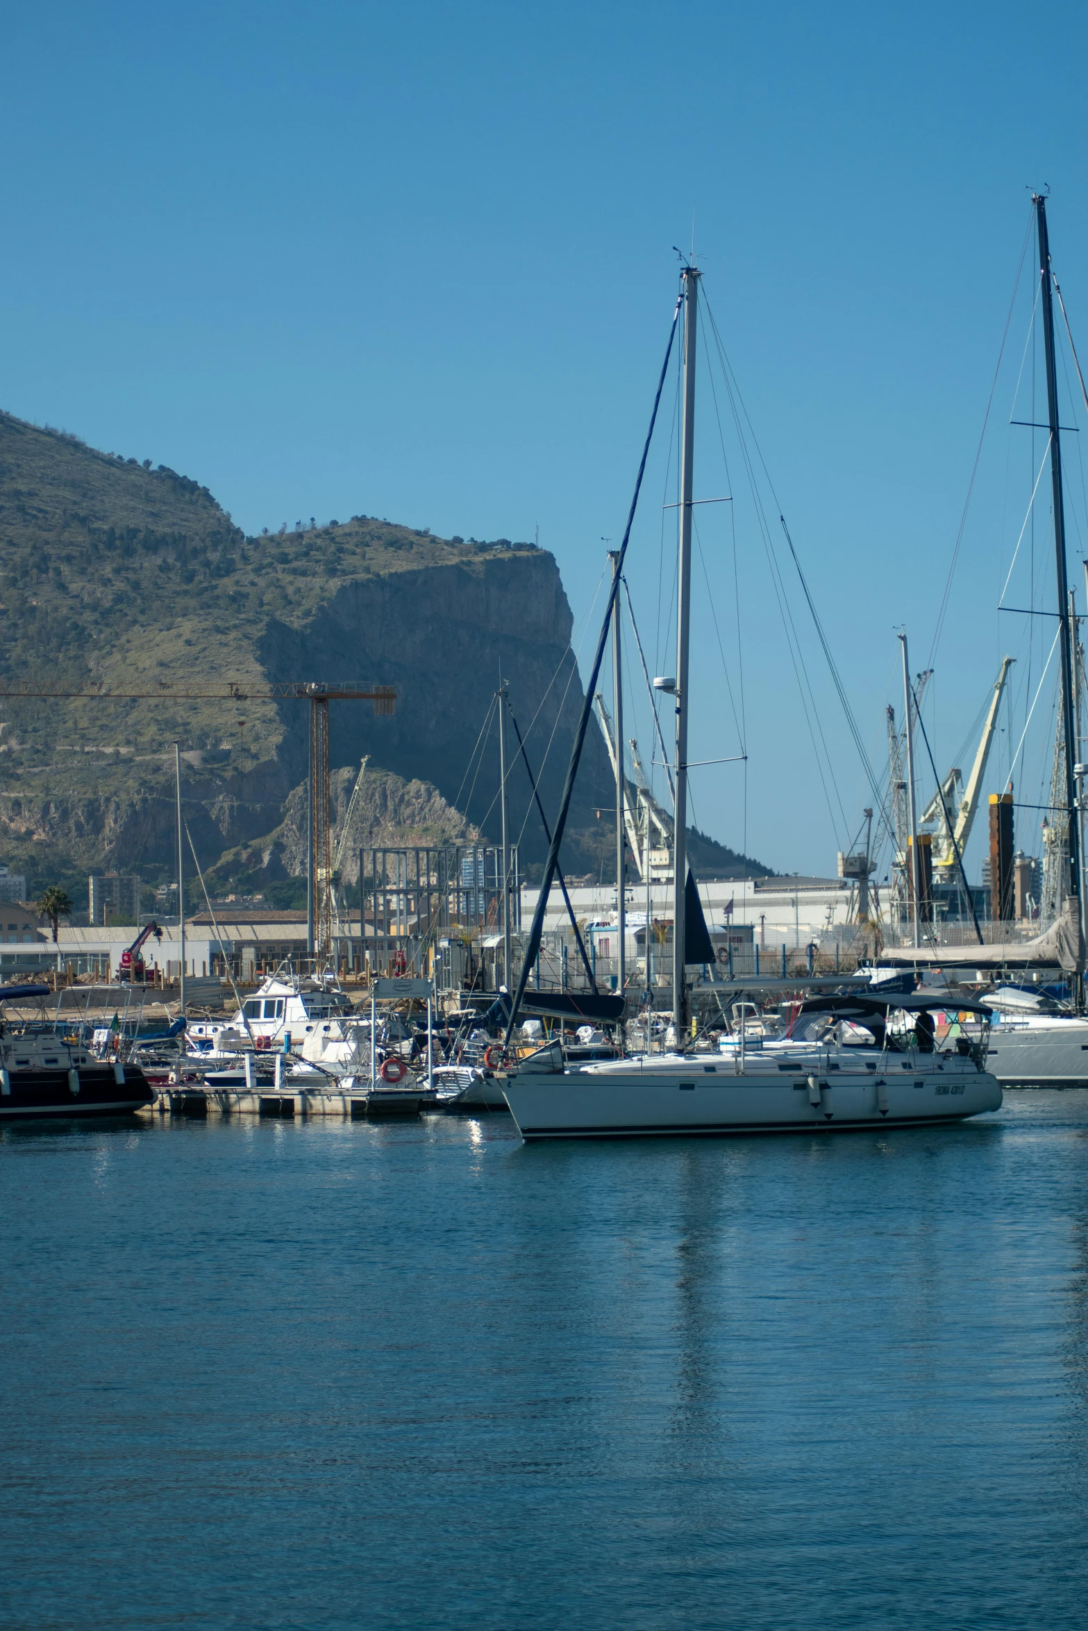
[[[958,998],[980,1039],[941,1047],[933,1010],[944,1001],[811,997],[793,1036],[760,1037],[752,1050],[737,1041],[726,1059],[649,1054],[571,1068],[553,1044],[509,1072],[502,1090],[525,1142],[917,1127],[1000,1109],[985,1068],[990,1010]]]

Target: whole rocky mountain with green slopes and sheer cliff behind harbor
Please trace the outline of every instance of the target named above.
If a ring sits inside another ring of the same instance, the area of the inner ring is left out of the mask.
[[[90,864],[166,876],[175,740],[202,861],[250,845],[250,873],[254,845],[269,840],[272,855],[307,771],[308,705],[170,696],[202,683],[395,685],[393,718],[375,718],[367,703],[331,705],[333,767],[347,771],[369,754],[375,771],[427,783],[424,802],[449,806],[453,825],[496,837],[493,698],[502,677],[533,768],[543,767],[545,809],[558,804],[582,690],[559,572],[540,550],[440,540],[364,515],[246,538],[196,481],[8,414],[0,541],[0,688],[155,698],[0,700],[0,858],[28,864],[31,882]],[[592,855],[608,781],[594,729],[571,816],[571,871]],[[509,786],[512,835],[525,860],[540,860],[524,767]],[[276,853],[277,864],[297,864],[290,843]]]

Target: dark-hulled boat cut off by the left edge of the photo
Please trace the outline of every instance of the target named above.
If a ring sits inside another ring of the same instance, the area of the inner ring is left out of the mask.
[[[0,987],[0,1122],[41,1116],[130,1116],[153,1094],[139,1065],[103,1062],[78,1031],[59,1036],[44,1019],[46,985]],[[41,1019],[8,1016],[7,1003],[38,1001]]]

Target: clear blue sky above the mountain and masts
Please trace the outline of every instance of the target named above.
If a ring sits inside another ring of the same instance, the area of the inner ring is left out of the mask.
[[[1083,8],[1044,28],[1002,3],[44,3],[8,5],[0,29],[0,406],[192,475],[248,530],[354,512],[478,538],[540,527],[582,626],[695,214],[706,297],[881,757],[896,626],[915,667],[928,657],[1031,186],[1052,188],[1088,354]],[[946,768],[1002,652],[1018,657],[995,788],[1042,639],[995,610],[1033,480],[1031,432],[1006,429],[1031,295],[1029,251],[927,705]],[[793,579],[824,794],[737,449],[726,435],[726,476],[700,403],[697,488],[734,491],[737,571],[728,506],[708,506],[692,757],[737,752],[721,634],[734,701],[744,664],[749,763],[695,773],[695,816],[780,869],[834,871],[871,796]],[[664,667],[669,411],[628,574]],[[1033,584],[1046,603],[1047,525],[1037,504],[1008,603]],[[1083,545],[1072,527],[1081,603]],[[1018,768],[1036,791],[1047,708]],[[635,719],[648,755],[641,703]]]

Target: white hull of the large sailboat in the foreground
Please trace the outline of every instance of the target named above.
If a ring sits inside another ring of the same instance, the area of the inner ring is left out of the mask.
[[[638,1065],[525,1072],[507,1076],[504,1091],[527,1142],[904,1127],[1002,1106],[995,1076],[971,1060],[894,1060],[882,1073],[816,1065],[811,1072],[799,1063],[734,1075],[701,1062],[666,1072]]]

